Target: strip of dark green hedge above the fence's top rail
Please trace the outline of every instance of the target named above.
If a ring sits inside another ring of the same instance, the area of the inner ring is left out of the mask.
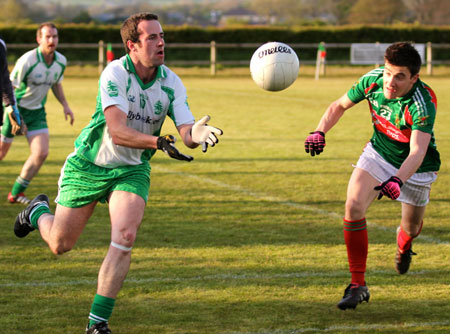
[[[7,43],[35,42],[36,25],[0,26],[0,36]],[[99,40],[120,43],[118,25],[65,24],[59,25],[61,42],[97,43]],[[283,29],[270,27],[199,28],[165,27],[166,42],[258,43],[273,40],[287,43],[364,43],[409,40],[417,43],[450,43],[450,27],[435,26],[340,26]]]

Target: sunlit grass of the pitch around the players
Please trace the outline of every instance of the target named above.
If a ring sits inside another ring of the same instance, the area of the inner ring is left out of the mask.
[[[442,167],[432,187],[410,272],[394,269],[400,204],[386,198],[367,213],[369,303],[341,311],[350,282],[342,232],[346,186],[372,128],[367,103],[348,111],[310,157],[303,141],[328,104],[365,69],[330,69],[315,81],[301,68],[287,90],[258,88],[247,69],[215,78],[180,70],[194,116],[211,115],[224,134],[191,163],[158,152],[130,272],[110,319],[114,334],[450,332],[450,76],[423,76],[438,96],[435,126]],[[302,72],[304,71],[304,72]],[[447,71],[441,69],[440,71]],[[201,72],[201,71],[198,71]],[[69,72],[70,73],[70,72]],[[98,80],[64,80],[75,125],[50,94],[50,155],[27,195],[53,199],[64,159],[95,107]],[[176,134],[167,119],[163,133]],[[50,253],[38,232],[13,234],[21,205],[6,202],[28,148],[17,138],[0,162],[0,332],[84,333],[97,273],[110,241],[99,204],[74,249]]]

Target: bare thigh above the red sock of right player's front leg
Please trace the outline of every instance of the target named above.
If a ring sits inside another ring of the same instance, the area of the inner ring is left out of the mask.
[[[373,189],[378,184],[378,180],[364,169],[356,167],[353,170],[347,187],[346,219],[363,218],[370,204],[378,195],[378,192]]]

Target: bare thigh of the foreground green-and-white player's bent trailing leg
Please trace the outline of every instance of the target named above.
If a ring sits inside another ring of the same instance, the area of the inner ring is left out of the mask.
[[[58,204],[50,236],[52,241],[63,243],[70,248],[73,247],[83,232],[96,204],[96,202],[92,202],[79,208],[69,208]]]

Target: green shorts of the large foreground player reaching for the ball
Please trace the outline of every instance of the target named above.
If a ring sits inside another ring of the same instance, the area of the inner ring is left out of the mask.
[[[127,191],[148,200],[150,164],[105,168],[72,153],[61,170],[56,202],[79,208],[94,201],[105,203],[116,190]]]

